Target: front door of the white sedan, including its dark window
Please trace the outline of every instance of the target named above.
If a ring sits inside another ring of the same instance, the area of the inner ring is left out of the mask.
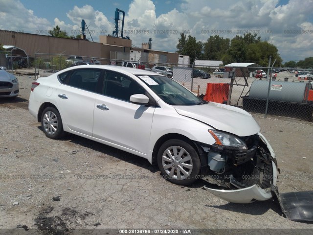
[[[92,136],[147,154],[155,106],[129,101],[132,94],[146,94],[133,78],[107,71],[103,95],[94,105]]]

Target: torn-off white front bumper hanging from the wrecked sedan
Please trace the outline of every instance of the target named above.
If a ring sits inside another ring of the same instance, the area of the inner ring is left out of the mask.
[[[267,145],[270,155],[273,159],[276,158],[275,153],[270,146],[269,142],[265,139],[265,137],[258,133],[260,139]],[[277,167],[275,163],[272,161],[272,184],[276,186],[277,182]],[[215,188],[208,188],[203,187],[212,194],[217,197],[220,197],[228,202],[233,203],[251,203],[254,201],[266,201],[272,198],[271,188],[261,188],[259,185],[253,185],[247,188],[235,189],[235,190],[227,190],[227,189],[215,189]]]

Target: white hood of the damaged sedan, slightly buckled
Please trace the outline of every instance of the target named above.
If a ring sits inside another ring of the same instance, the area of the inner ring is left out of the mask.
[[[251,136],[260,131],[258,123],[249,113],[230,105],[210,102],[203,105],[173,107],[182,116],[199,120],[217,130],[240,137]]]

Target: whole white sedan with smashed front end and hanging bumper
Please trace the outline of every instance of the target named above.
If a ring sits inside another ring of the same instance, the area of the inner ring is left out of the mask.
[[[49,138],[69,132],[122,149],[172,183],[204,179],[230,202],[268,200],[276,185],[275,153],[250,114],[154,72],[72,67],[32,83],[29,111]]]

